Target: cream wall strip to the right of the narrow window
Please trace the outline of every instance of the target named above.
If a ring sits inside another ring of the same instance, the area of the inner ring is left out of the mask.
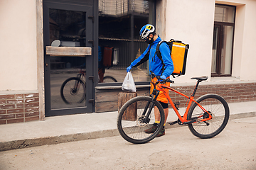
[[[256,1],[224,0],[216,3],[236,6],[232,76],[240,80],[256,80],[256,55],[253,52],[256,45]]]

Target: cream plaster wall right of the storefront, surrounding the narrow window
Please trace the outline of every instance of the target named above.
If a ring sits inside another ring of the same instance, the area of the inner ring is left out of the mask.
[[[256,80],[256,1],[161,0],[157,1],[156,31],[163,40],[173,38],[190,45],[186,75],[174,79],[176,83],[191,82],[191,77],[210,77],[215,4],[237,6],[232,77],[235,81]]]

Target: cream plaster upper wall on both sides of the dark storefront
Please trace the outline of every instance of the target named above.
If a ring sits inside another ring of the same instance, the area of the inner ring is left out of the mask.
[[[186,75],[176,83],[210,77],[215,3],[237,6],[232,76],[256,80],[255,0],[159,0],[156,31],[190,45]],[[0,21],[0,91],[37,90],[36,1],[1,0]]]

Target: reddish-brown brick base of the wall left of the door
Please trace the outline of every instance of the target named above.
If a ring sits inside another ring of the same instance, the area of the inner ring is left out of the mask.
[[[39,94],[0,94],[0,124],[39,120]]]

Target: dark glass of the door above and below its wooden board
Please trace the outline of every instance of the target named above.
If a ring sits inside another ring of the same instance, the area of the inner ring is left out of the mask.
[[[85,47],[85,12],[50,8],[49,22],[50,44]],[[85,57],[50,56],[51,109],[85,107],[85,65]]]

